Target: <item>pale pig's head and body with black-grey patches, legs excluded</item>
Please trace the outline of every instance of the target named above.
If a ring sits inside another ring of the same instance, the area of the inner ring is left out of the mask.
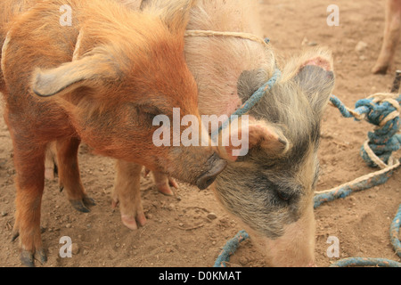
[[[199,1],[187,29],[261,37],[255,11],[256,1]],[[243,136],[249,151],[233,157],[233,147],[225,147],[225,158],[232,162],[213,188],[224,208],[263,244],[269,265],[314,265],[313,197],[321,119],[334,85],[331,53],[311,49],[281,67],[274,46],[249,39],[186,37],[185,44],[201,114],[233,114],[274,69],[282,70],[281,79],[247,114]]]

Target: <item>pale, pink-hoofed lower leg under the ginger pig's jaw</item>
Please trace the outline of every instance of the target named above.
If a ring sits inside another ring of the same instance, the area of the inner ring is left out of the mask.
[[[116,183],[112,195],[112,206],[119,205],[121,221],[128,229],[136,230],[138,225],[146,224],[141,201],[142,166],[118,160],[116,163]]]

